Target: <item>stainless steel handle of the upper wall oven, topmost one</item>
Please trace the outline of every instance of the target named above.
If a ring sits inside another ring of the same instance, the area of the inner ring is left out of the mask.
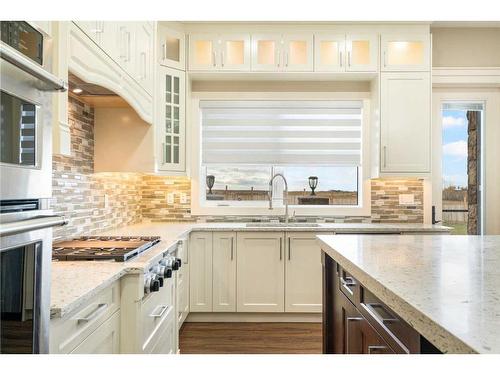
[[[5,61],[10,62],[12,65],[15,65],[19,69],[25,71],[31,76],[35,77],[42,81],[45,86],[42,89],[43,91],[67,91],[68,83],[55,75],[47,72],[44,68],[42,68],[37,63],[31,61],[29,58],[24,56],[22,53],[16,51],[11,46],[5,44],[4,42],[0,43],[0,57]]]

